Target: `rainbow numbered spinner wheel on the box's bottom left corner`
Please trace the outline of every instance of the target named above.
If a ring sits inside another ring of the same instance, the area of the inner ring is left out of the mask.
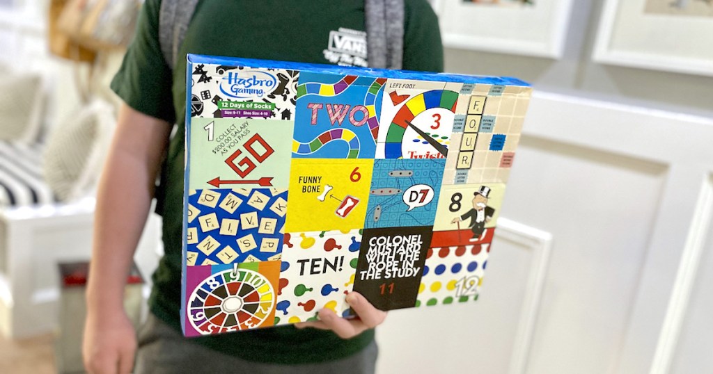
[[[188,300],[188,319],[203,335],[255,328],[275,304],[275,290],[265,276],[247,269],[213,274]]]

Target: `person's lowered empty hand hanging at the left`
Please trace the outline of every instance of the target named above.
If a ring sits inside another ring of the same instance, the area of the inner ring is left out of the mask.
[[[123,309],[87,314],[82,354],[88,373],[131,373],[135,352],[136,333]]]

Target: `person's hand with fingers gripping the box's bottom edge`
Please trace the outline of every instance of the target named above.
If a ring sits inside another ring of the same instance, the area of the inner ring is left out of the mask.
[[[297,328],[319,328],[320,330],[332,330],[342,339],[354,338],[369,328],[384,323],[386,312],[374,308],[364,296],[358,292],[350,292],[347,295],[347,303],[356,312],[356,318],[347,319],[337,316],[331,309],[322,308],[319,311],[319,321],[309,321],[296,323]]]

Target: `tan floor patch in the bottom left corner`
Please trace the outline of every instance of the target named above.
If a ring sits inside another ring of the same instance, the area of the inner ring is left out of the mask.
[[[53,339],[53,334],[19,341],[0,337],[0,373],[56,373]]]

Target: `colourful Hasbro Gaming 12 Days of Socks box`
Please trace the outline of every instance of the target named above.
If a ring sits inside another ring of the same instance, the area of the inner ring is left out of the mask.
[[[531,88],[188,55],[183,332],[475,301]]]

